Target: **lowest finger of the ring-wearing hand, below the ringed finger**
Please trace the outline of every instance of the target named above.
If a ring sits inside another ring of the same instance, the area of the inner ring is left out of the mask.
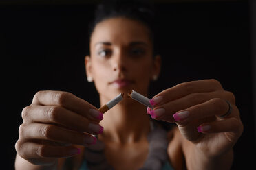
[[[237,132],[239,132],[238,134],[242,134],[242,126],[243,126],[242,122],[239,119],[235,117],[231,117],[231,118],[220,120],[220,121],[204,123],[198,127],[198,132],[201,132],[204,134],[220,133],[220,132],[235,132],[234,134],[236,134],[237,136]]]

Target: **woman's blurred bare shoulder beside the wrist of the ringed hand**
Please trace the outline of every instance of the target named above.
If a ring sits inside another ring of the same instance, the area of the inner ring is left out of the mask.
[[[167,134],[169,141],[167,154],[169,156],[169,162],[174,169],[185,169],[185,159],[182,151],[182,143],[184,138],[180,134],[178,127],[173,127]]]

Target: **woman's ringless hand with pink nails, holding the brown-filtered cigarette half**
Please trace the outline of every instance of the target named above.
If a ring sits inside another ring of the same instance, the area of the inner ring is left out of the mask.
[[[17,154],[34,165],[53,165],[96,142],[103,114],[87,101],[61,91],[39,91],[22,111]]]

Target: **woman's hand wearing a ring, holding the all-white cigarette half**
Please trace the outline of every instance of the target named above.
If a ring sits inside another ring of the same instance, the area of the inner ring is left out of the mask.
[[[147,113],[153,119],[177,123],[182,136],[210,157],[230,151],[243,131],[235,96],[217,80],[178,84],[153,97],[151,105]]]

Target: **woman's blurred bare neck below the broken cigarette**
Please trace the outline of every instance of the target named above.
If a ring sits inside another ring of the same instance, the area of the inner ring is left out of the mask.
[[[100,121],[104,132],[99,137],[118,143],[132,143],[147,138],[150,118],[146,107],[130,98],[123,100],[104,114],[104,119]]]

